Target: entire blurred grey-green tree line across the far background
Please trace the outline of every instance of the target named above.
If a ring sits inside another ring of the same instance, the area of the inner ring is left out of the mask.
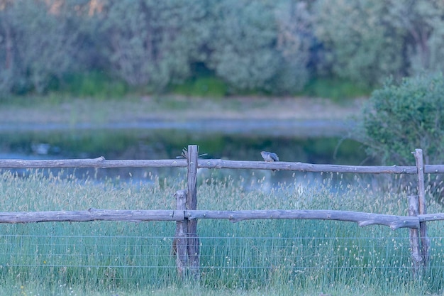
[[[294,94],[444,70],[442,0],[0,0],[0,94],[106,73],[162,91],[213,75]]]

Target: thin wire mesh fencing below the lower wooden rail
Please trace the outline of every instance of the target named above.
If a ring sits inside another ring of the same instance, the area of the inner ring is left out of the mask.
[[[170,236],[6,234],[2,278],[89,285],[170,284],[177,278]],[[444,273],[444,241],[432,237],[430,274]],[[211,285],[411,278],[409,237],[200,237],[200,277]]]

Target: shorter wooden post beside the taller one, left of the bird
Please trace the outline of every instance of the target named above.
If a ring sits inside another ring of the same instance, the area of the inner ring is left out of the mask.
[[[187,206],[187,190],[177,190],[176,197],[177,210],[184,211]],[[172,241],[172,254],[176,255],[177,273],[180,278],[184,278],[188,265],[188,240],[187,240],[188,219],[176,222],[176,233]]]

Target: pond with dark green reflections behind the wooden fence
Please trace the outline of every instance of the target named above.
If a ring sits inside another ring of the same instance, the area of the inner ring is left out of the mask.
[[[344,139],[349,123],[338,121],[153,121],[107,126],[21,126],[0,130],[0,158],[55,159],[171,159],[188,145],[199,146],[202,158],[262,160],[261,150],[274,151],[280,160],[302,163],[360,165],[365,148]],[[365,163],[369,165],[368,161]],[[176,170],[176,171],[173,171]],[[65,170],[66,171],[66,170]],[[206,175],[251,176],[241,170]],[[140,180],[147,175],[177,175],[177,169],[75,170],[76,175]],[[149,174],[148,174],[149,173]],[[271,172],[257,172],[263,177]],[[274,172],[273,182],[287,182],[293,172]]]

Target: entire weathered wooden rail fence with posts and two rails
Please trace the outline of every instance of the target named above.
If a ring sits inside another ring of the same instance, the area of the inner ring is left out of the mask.
[[[429,264],[430,241],[427,221],[444,220],[444,213],[427,214],[424,174],[444,173],[444,165],[424,165],[421,149],[414,152],[415,166],[356,166],[314,165],[309,163],[262,161],[233,161],[199,159],[198,146],[184,149],[184,159],[173,160],[106,160],[104,157],[73,160],[0,160],[0,168],[187,168],[187,190],[174,195],[174,210],[109,210],[87,209],[84,211],[47,212],[0,212],[0,223],[29,223],[43,221],[176,221],[173,249],[179,274],[190,272],[199,277],[198,219],[228,219],[233,222],[248,219],[323,219],[353,221],[359,226],[379,224],[390,229],[409,228],[411,260],[414,274]],[[199,168],[233,168],[257,170],[296,170],[301,172],[341,172],[370,174],[410,174],[418,176],[418,193],[409,196],[409,216],[351,212],[340,210],[251,210],[207,211],[197,210],[196,176]]]

